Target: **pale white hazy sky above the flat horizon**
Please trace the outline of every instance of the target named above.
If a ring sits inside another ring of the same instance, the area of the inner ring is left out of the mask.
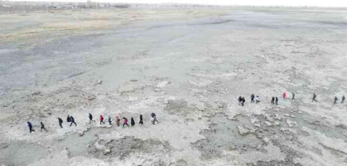
[[[15,0],[15,1],[87,1],[87,0]],[[128,3],[196,3],[219,5],[286,5],[286,6],[334,6],[347,7],[347,0],[92,0],[99,2]]]

